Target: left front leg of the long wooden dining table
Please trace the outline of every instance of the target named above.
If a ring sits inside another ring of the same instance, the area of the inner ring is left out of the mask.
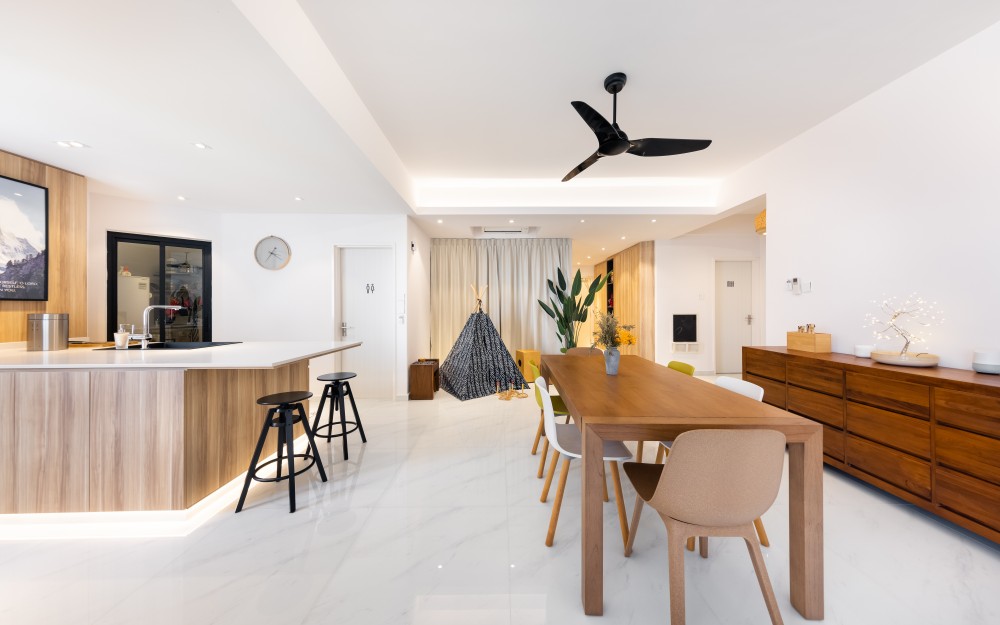
[[[604,441],[583,426],[583,612],[604,614]]]

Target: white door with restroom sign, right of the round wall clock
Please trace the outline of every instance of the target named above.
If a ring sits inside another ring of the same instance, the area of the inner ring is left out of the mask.
[[[363,341],[340,352],[340,370],[358,374],[351,380],[355,396],[391,399],[396,366],[392,248],[342,247],[338,260],[335,336]]]

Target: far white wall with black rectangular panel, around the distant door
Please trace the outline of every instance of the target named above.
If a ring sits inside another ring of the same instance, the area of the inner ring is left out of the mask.
[[[748,234],[690,234],[655,242],[656,362],[665,365],[671,360],[681,360],[694,365],[698,373],[715,371],[716,261],[751,262],[752,314],[757,319],[763,318],[761,238],[751,228]],[[698,315],[697,352],[673,351],[675,314]],[[755,344],[761,340],[759,327],[755,326]]]

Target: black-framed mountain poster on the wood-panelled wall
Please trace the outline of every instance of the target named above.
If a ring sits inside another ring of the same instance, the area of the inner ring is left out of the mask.
[[[0,176],[0,300],[49,298],[49,190]]]

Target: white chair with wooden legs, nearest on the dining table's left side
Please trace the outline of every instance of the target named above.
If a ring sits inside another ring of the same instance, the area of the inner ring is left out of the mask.
[[[549,531],[545,537],[545,545],[552,546],[556,534],[556,524],[559,522],[559,508],[562,506],[563,493],[566,490],[566,477],[569,474],[569,461],[583,457],[583,437],[580,429],[573,424],[556,423],[556,415],[552,410],[552,397],[543,378],[535,378],[535,388],[542,394],[542,411],[545,419],[545,437],[552,447],[552,460],[549,474],[542,487],[542,503],[549,496],[549,487],[555,475],[556,460],[563,456],[562,470],[559,473],[559,485],[556,487],[556,500],[552,504],[552,517],[549,520]],[[618,504],[618,524],[622,530],[622,544],[628,543],[628,518],[625,516],[625,501],[622,498],[622,480],[618,473],[618,463],[632,459],[632,452],[621,441],[604,441],[604,461],[611,465],[611,477],[614,480],[615,500]],[[606,500],[606,499],[605,499]]]

